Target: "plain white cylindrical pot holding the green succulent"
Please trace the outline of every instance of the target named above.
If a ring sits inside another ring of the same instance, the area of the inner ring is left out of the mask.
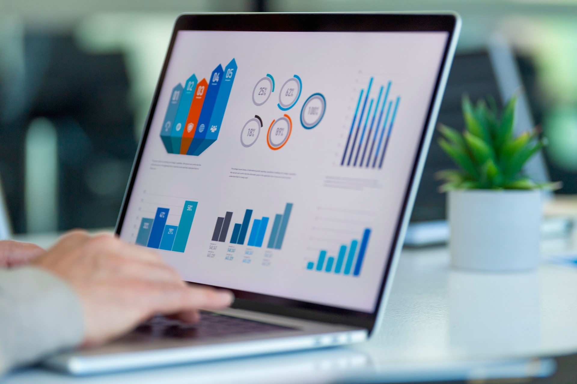
[[[537,267],[541,191],[451,191],[447,210],[452,267],[500,272]]]

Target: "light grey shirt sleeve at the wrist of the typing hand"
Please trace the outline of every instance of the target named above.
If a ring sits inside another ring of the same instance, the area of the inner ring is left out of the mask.
[[[0,269],[0,375],[84,339],[80,299],[44,269]]]

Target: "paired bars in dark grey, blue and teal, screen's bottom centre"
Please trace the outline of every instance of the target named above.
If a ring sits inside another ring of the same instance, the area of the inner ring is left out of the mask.
[[[288,220],[290,219],[291,211],[293,210],[293,203],[286,203],[284,206],[284,212],[282,214],[276,214],[272,221],[272,229],[269,234],[267,248],[270,249],[281,249],[283,246],[284,235],[286,234],[288,227]],[[226,212],[224,216],[219,216],[216,218],[216,224],[214,231],[212,233],[212,241],[215,242],[226,242],[227,235],[230,230],[231,220],[233,219],[234,212]],[[255,247],[262,247],[264,244],[264,238],[267,233],[268,223],[270,221],[268,216],[262,216],[258,219],[252,220],[252,226],[250,225],[250,219],[253,216],[253,210],[245,210],[242,216],[242,222],[235,223],[233,225],[230,238],[228,242],[230,244],[238,244]],[[249,232],[250,227],[250,232]]]

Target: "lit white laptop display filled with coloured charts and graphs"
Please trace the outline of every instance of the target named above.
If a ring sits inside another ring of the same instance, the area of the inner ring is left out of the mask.
[[[120,237],[188,282],[374,311],[448,38],[177,32]]]

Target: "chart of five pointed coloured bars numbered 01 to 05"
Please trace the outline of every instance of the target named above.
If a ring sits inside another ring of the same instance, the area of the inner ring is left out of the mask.
[[[218,139],[236,74],[232,59],[224,69],[218,64],[208,81],[193,74],[173,88],[160,131],[168,153],[198,156]]]

